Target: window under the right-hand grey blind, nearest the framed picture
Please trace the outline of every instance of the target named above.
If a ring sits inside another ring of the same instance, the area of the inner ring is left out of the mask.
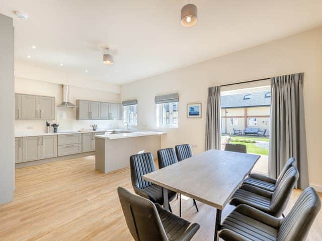
[[[156,104],[156,126],[178,127],[179,102]]]

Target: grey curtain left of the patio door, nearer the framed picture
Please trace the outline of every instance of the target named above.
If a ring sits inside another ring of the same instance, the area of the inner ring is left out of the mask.
[[[208,88],[205,150],[220,149],[220,86]]]

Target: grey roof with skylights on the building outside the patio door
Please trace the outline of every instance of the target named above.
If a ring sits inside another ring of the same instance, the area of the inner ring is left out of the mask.
[[[270,106],[271,92],[258,91],[221,96],[221,108]]]

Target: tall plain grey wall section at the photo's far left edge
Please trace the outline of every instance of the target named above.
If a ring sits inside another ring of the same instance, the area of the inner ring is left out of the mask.
[[[0,203],[13,200],[14,152],[14,28],[13,20],[0,14]]]

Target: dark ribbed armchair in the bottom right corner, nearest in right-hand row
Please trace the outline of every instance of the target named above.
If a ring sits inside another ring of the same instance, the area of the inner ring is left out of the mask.
[[[321,207],[318,194],[306,188],[284,218],[276,218],[245,204],[221,223],[219,237],[226,241],[304,241]]]

